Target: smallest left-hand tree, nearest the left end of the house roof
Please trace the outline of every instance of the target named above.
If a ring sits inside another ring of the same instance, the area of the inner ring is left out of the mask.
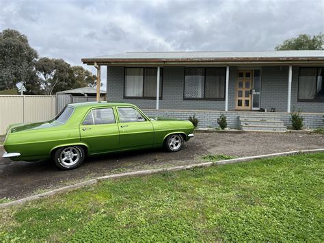
[[[82,66],[72,66],[70,68],[70,80],[72,81],[71,88],[96,86],[96,75],[92,74]]]

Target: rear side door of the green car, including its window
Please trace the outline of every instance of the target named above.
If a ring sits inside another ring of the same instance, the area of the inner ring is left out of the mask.
[[[119,147],[119,129],[113,107],[94,108],[80,127],[81,142],[90,146],[90,153],[104,153]]]

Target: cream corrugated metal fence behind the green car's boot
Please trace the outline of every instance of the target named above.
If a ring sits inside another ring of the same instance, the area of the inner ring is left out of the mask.
[[[0,95],[0,135],[5,133],[10,124],[50,120],[65,105],[87,101],[96,101],[96,97],[77,97],[70,94]]]

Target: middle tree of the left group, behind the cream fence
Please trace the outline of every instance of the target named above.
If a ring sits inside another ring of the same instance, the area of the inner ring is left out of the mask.
[[[51,95],[69,87],[70,64],[64,60],[42,57],[36,62],[35,68],[44,94]]]

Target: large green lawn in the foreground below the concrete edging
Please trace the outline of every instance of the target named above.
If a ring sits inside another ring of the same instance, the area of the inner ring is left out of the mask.
[[[104,181],[0,211],[0,242],[324,240],[324,154]]]

